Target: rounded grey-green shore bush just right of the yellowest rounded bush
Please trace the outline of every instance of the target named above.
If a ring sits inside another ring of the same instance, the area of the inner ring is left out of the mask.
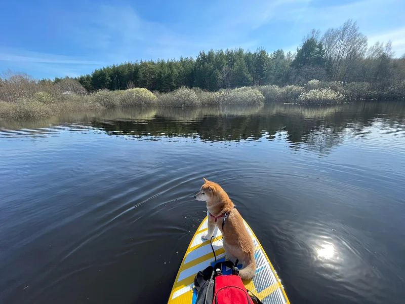
[[[201,105],[197,94],[191,89],[181,87],[176,91],[158,95],[157,103],[161,106],[189,107]]]

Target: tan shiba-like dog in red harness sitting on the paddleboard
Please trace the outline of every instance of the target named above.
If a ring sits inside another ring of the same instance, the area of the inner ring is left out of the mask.
[[[244,220],[234,208],[224,189],[215,182],[203,179],[204,184],[198,194],[194,196],[197,201],[206,201],[207,203],[208,233],[203,236],[203,239],[211,239],[215,225],[217,225],[222,233],[222,244],[229,260],[235,263],[238,259],[244,265],[239,270],[240,278],[250,280],[256,272],[255,247],[246,230]],[[225,223],[222,225],[226,215]]]

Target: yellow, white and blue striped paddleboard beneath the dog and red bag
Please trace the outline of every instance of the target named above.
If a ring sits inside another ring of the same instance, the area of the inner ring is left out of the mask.
[[[244,221],[245,222],[245,221]],[[256,273],[252,280],[243,280],[245,287],[252,291],[261,299],[263,304],[290,304],[284,287],[275,272],[273,265],[268,259],[262,246],[257,240],[255,234],[249,225],[245,222],[246,230],[252,237],[255,245]],[[200,271],[206,269],[209,265],[214,266],[215,259],[210,246],[210,240],[203,240],[201,237],[208,231],[208,218],[206,217],[195,232],[190,245],[188,245],[186,254],[181,262],[179,272],[177,273],[175,283],[170,293],[168,304],[194,304],[197,299],[197,293],[194,288],[194,277]],[[213,247],[217,256],[217,261],[225,261],[226,257],[224,247],[222,246],[222,236],[218,227],[215,228]],[[237,267],[240,269],[242,265]],[[231,269],[222,265],[223,274],[231,274]]]

